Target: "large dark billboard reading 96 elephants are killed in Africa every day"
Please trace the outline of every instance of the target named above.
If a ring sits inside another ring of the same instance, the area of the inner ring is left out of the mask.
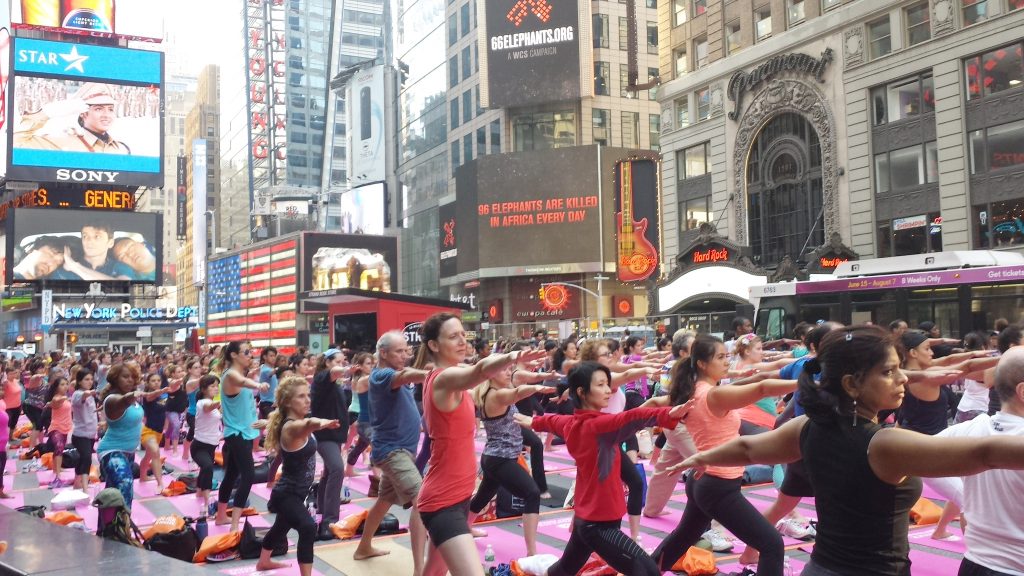
[[[481,270],[570,273],[600,261],[593,147],[483,156],[476,170],[475,181],[457,176],[456,210],[464,238],[475,224]],[[459,271],[467,272],[460,248]]]

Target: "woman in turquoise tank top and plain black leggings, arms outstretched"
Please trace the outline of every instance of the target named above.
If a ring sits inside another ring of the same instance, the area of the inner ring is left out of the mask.
[[[265,393],[269,386],[248,377],[252,358],[249,344],[232,340],[221,348],[220,411],[224,423],[224,479],[217,495],[218,525],[231,525],[231,532],[239,531],[242,509],[253,487],[256,466],[253,462],[253,441],[259,438],[256,415],[256,397],[253,390]],[[236,487],[236,483],[238,486]],[[227,501],[234,489],[231,517],[227,517]]]

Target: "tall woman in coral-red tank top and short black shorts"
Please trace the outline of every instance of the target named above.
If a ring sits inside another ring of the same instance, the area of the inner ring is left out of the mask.
[[[469,501],[476,487],[476,414],[469,390],[510,364],[530,365],[545,352],[493,354],[473,366],[459,317],[435,314],[421,330],[414,366],[433,366],[423,383],[423,418],[433,442],[417,507],[430,535],[424,576],[480,573],[480,557],[469,529]],[[439,552],[439,553],[438,553]]]

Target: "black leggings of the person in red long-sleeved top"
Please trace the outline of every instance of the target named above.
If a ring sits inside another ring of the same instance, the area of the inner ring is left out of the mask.
[[[608,566],[630,576],[662,574],[657,564],[636,542],[620,530],[622,521],[588,522],[572,520],[572,535],[562,558],[548,568],[548,576],[574,576],[597,552]]]

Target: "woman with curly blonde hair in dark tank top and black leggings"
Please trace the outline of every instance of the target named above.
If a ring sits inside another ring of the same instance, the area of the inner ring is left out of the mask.
[[[295,529],[299,533],[299,573],[311,574],[313,569],[313,541],[316,523],[306,509],[305,497],[316,474],[316,439],[314,431],[338,429],[341,422],[324,418],[307,418],[309,413],[309,384],[300,376],[290,376],[278,384],[274,395],[278,408],[267,422],[266,449],[282,455],[281,480],[270,492],[267,508],[273,511],[273,527],[263,537],[256,570],[276,570],[288,564],[270,560],[274,544]]]

